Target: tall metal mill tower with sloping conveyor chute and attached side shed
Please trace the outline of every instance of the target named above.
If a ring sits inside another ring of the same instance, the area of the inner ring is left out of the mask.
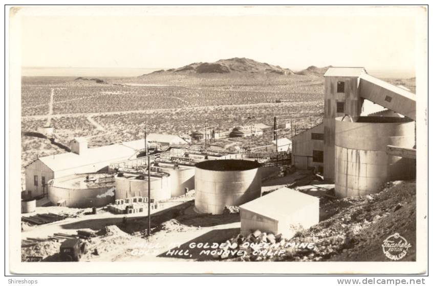
[[[407,88],[377,79],[363,67],[330,67],[324,74],[323,123],[291,138],[292,163],[300,169],[323,169],[323,177],[334,181],[336,118],[356,120],[360,115],[368,115],[382,117],[377,122],[383,122],[385,116],[399,114],[416,119],[415,94]],[[365,141],[363,136],[359,134],[355,142]]]

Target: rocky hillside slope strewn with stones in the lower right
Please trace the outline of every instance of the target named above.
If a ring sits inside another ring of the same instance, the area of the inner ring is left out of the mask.
[[[415,182],[396,181],[387,183],[383,191],[378,194],[330,201],[324,207],[335,208],[336,211],[327,220],[307,230],[299,231],[290,240],[272,235],[269,237],[270,234],[256,230],[242,241],[250,243],[245,249],[245,254],[233,259],[386,261],[381,244],[387,236],[399,232],[413,245],[416,242],[415,194]],[[240,237],[235,239],[239,240]],[[230,242],[234,242],[235,239]],[[251,243],[254,242],[261,244],[251,247]],[[368,257],[365,254],[366,248],[372,249]],[[409,251],[415,253],[415,247]],[[414,255],[408,253],[406,259],[415,259]]]

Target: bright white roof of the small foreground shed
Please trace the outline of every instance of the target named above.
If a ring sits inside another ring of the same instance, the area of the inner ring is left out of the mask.
[[[316,197],[283,187],[239,207],[270,219],[280,220],[306,204],[316,204],[318,200]]]

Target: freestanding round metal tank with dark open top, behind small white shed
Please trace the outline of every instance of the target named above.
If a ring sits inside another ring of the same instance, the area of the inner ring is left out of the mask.
[[[209,160],[196,164],[195,205],[199,212],[222,213],[261,196],[260,164],[248,160]]]

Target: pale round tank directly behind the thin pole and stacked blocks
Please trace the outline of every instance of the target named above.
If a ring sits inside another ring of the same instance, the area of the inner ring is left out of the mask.
[[[132,197],[147,197],[147,175],[130,176],[126,173],[116,175],[116,200]],[[158,173],[150,175],[150,199],[163,201],[171,198],[169,174]]]

